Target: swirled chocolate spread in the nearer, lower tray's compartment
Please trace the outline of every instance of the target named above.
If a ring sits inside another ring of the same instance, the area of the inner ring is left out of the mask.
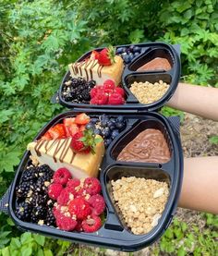
[[[170,151],[163,133],[158,129],[148,128],[127,144],[117,160],[163,164],[170,160]]]

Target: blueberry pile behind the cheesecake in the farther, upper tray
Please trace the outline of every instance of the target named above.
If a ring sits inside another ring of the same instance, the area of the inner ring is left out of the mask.
[[[130,45],[129,47],[119,47],[116,49],[115,54],[121,55],[125,64],[129,64],[135,57],[141,52],[141,48],[136,45]]]

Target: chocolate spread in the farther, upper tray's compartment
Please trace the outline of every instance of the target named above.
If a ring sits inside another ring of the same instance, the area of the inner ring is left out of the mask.
[[[139,67],[137,71],[147,71],[147,70],[170,70],[172,67],[166,58],[156,57],[145,65]]]

